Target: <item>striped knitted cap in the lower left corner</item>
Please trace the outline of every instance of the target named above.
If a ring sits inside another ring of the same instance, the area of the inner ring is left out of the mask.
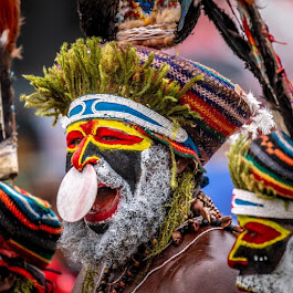
[[[44,269],[61,234],[61,223],[50,205],[0,181],[0,213],[6,245],[28,263]]]

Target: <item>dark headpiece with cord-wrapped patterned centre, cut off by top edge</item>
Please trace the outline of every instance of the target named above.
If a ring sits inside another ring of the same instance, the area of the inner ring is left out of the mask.
[[[86,36],[153,48],[182,42],[195,28],[201,4],[191,0],[79,0]]]

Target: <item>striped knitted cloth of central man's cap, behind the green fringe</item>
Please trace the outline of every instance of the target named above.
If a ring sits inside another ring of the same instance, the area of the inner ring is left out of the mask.
[[[203,80],[180,98],[198,113],[201,119],[195,119],[192,127],[186,127],[200,153],[202,164],[207,163],[226,139],[236,133],[250,117],[244,93],[212,69],[180,56],[170,56],[161,51],[138,46],[137,53],[144,63],[155,53],[153,66],[159,69],[164,63],[170,67],[167,77],[185,86],[195,75]]]

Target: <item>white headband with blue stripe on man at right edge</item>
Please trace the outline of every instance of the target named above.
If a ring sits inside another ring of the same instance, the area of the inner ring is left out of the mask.
[[[233,189],[232,209],[237,216],[293,219],[293,202],[279,198],[264,199],[242,189]]]

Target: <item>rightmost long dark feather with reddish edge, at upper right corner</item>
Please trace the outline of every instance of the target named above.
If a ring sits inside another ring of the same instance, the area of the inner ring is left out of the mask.
[[[262,75],[262,81],[264,80],[264,83],[261,83],[264,98],[273,111],[276,127],[293,137],[292,85],[279,56],[273,50],[268,27],[261,18],[257,6],[243,2],[243,0],[238,0],[238,3],[242,19],[245,17],[249,23],[245,33],[253,38],[253,43],[258,50],[254,57],[262,62],[259,71]],[[248,41],[250,41],[249,38]]]

